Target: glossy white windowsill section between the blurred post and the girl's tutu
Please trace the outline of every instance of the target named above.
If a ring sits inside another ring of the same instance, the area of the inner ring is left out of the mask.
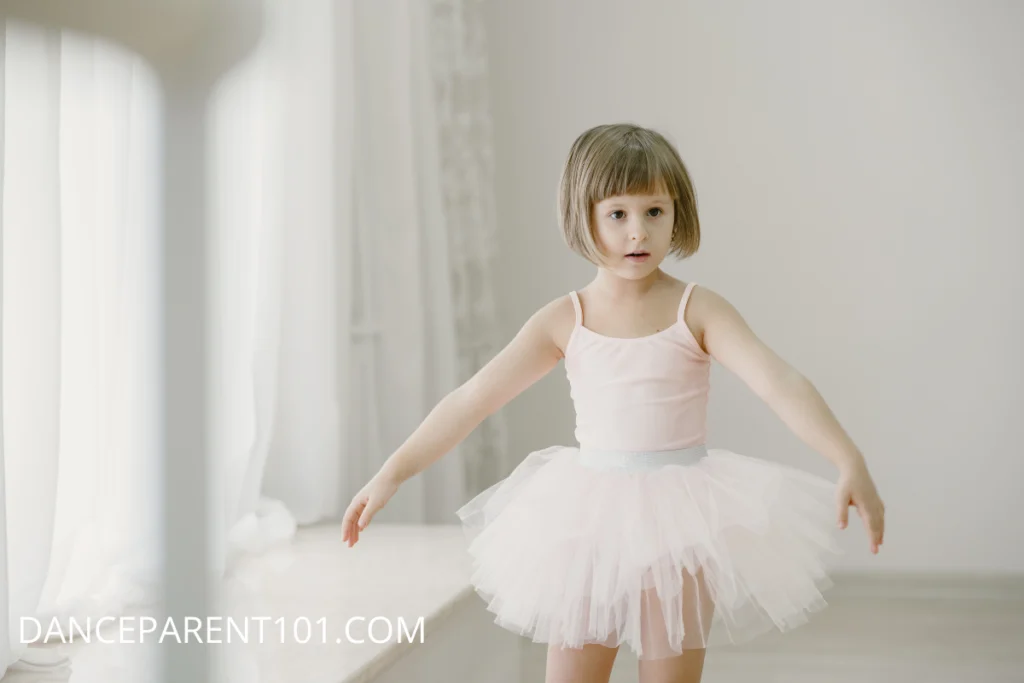
[[[338,524],[305,527],[289,547],[242,567],[239,579],[250,585],[254,601],[242,597],[231,611],[271,612],[284,617],[286,632],[303,617],[313,626],[306,644],[288,633],[282,642],[280,626],[274,628],[271,642],[259,648],[261,680],[367,683],[416,648],[429,647],[444,618],[476,599],[469,573],[458,525],[373,523],[352,548],[342,542]],[[346,635],[352,617],[362,618]],[[387,642],[371,641],[375,617],[373,635]]]

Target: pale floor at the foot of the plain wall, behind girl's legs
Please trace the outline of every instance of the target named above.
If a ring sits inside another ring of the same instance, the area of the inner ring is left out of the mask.
[[[877,586],[894,593],[904,582]],[[706,683],[1022,683],[1024,599],[981,587],[973,597],[837,595],[808,625],[742,648],[709,650]],[[959,586],[958,592],[971,592]],[[543,648],[530,648],[526,680],[544,680]],[[612,683],[636,681],[620,653]]]

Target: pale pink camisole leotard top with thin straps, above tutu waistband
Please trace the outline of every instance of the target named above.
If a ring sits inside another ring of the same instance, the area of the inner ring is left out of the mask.
[[[705,442],[711,357],[683,319],[693,287],[686,286],[674,325],[634,338],[585,327],[580,297],[570,292],[577,318],[565,374],[581,445],[667,451]]]

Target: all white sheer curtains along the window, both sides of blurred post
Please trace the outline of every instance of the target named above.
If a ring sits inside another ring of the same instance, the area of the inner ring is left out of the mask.
[[[211,523],[227,575],[337,517],[500,342],[478,0],[266,8],[210,117]],[[0,34],[2,672],[42,656],[19,644],[22,616],[115,613],[155,588],[160,122],[133,55]],[[511,466],[494,416],[380,519],[454,522]]]

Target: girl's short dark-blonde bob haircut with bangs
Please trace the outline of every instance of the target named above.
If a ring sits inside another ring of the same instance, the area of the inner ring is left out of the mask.
[[[565,244],[600,265],[591,225],[594,205],[608,197],[654,194],[659,185],[675,209],[669,253],[686,258],[700,245],[700,221],[693,182],[672,143],[633,124],[606,124],[584,132],[569,150],[558,184],[558,222]]]

